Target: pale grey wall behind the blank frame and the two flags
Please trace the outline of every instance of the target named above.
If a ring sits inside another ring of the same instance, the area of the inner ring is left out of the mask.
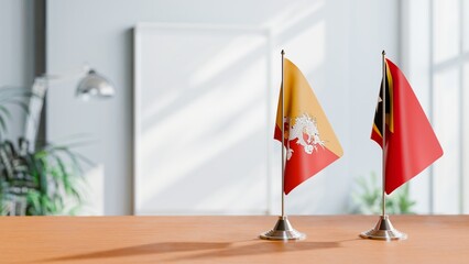
[[[50,140],[81,132],[97,139],[81,152],[105,174],[106,215],[132,212],[132,28],[138,22],[272,30],[274,51],[285,48],[310,80],[345,150],[342,158],[288,195],[288,213],[343,213],[353,177],[378,172],[380,148],[369,135],[381,51],[399,63],[399,1],[50,0],[50,73],[77,70],[88,62],[118,89],[112,100],[84,103],[73,98],[70,81],[50,89],[47,98]],[[280,56],[273,63],[280,65]]]

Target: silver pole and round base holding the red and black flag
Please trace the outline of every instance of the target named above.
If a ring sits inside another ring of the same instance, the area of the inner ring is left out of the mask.
[[[381,127],[381,135],[382,135],[382,174],[383,174],[383,190],[382,190],[382,212],[380,219],[378,220],[377,226],[366,232],[360,233],[360,237],[363,239],[373,239],[373,240],[405,240],[407,239],[407,234],[397,231],[391,223],[389,216],[386,215],[386,196],[385,196],[385,187],[386,187],[386,90],[388,90],[388,81],[386,81],[386,53],[383,51],[383,78],[381,86],[381,99],[382,99],[382,127]],[[391,101],[391,100],[390,100]]]

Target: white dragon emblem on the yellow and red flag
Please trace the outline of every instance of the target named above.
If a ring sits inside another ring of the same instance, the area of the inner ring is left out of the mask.
[[[290,124],[290,118],[285,118],[284,121]],[[317,129],[316,119],[312,119],[307,113],[303,113],[301,117],[295,118],[295,124],[290,128],[287,138],[287,160],[290,160],[293,155],[293,150],[290,148],[290,141],[297,140],[296,144],[302,145],[307,154],[313,154],[314,151],[317,151],[318,146],[324,148],[326,144],[326,142],[319,138],[319,130]]]

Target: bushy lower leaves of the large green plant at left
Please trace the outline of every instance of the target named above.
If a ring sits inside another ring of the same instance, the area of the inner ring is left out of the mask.
[[[0,179],[6,179],[0,180],[0,207],[7,208],[8,199],[14,199],[13,196],[7,197],[12,186],[28,189],[26,215],[62,215],[66,212],[66,207],[83,205],[80,183],[86,184],[86,180],[83,178],[81,163],[86,158],[67,146],[53,144],[26,153],[23,143],[19,143],[22,147],[9,141],[0,144],[0,167],[9,167],[0,169]],[[21,177],[17,177],[19,172]]]

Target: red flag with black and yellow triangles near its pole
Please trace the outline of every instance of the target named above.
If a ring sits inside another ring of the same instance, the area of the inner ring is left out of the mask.
[[[443,155],[438,139],[405,76],[385,59],[385,191],[391,194]],[[382,87],[371,139],[382,147]]]

